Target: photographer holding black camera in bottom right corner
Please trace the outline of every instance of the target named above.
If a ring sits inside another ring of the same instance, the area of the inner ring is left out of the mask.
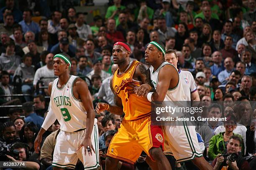
[[[251,170],[248,161],[243,158],[241,152],[242,139],[238,135],[230,137],[226,155],[218,154],[212,162],[214,170]]]

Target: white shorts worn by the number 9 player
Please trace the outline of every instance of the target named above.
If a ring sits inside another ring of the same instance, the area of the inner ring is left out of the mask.
[[[88,153],[86,153],[86,155],[84,154],[84,147],[77,150],[85,137],[85,133],[86,129],[71,133],[61,130],[56,139],[52,165],[58,168],[74,169],[79,158],[84,165],[84,170],[91,170],[99,167],[99,140],[97,123],[94,124],[92,129],[91,140],[95,153],[92,151],[91,156],[89,156]]]

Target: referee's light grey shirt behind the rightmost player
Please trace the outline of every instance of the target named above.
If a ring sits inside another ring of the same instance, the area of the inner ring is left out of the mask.
[[[187,101],[191,100],[191,94],[197,91],[197,85],[194,77],[189,71],[179,70],[179,77],[185,94],[187,94]]]

